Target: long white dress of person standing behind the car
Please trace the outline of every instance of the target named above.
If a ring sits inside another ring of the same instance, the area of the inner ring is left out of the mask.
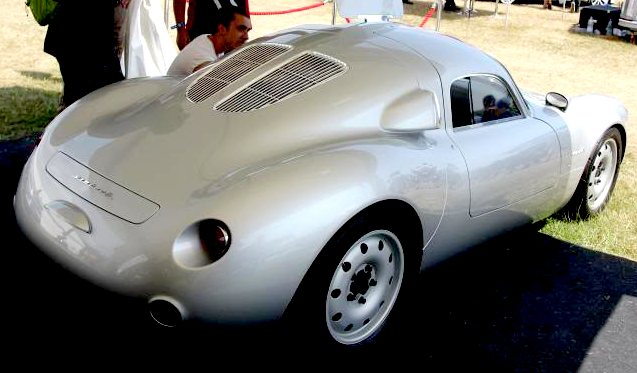
[[[121,63],[127,79],[166,75],[177,56],[161,5],[157,0],[132,0],[123,11]]]

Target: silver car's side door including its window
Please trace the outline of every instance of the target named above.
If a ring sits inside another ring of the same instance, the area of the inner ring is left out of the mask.
[[[527,116],[504,80],[472,75],[451,84],[450,136],[469,173],[472,217],[527,201],[547,198],[560,170],[557,135]]]

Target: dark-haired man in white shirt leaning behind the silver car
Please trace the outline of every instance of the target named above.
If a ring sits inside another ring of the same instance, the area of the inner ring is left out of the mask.
[[[250,17],[236,9],[219,13],[217,32],[199,35],[179,52],[167,75],[185,76],[242,46],[252,30]]]

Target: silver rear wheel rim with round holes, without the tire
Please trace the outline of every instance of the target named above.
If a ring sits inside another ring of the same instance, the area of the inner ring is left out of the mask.
[[[403,281],[404,255],[389,231],[367,233],[335,268],[326,299],[332,337],[356,344],[374,335],[391,311]]]

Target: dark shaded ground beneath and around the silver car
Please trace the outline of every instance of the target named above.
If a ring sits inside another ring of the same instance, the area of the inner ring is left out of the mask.
[[[244,358],[235,363],[262,366],[294,354],[307,358],[306,366],[373,367],[387,360],[445,371],[637,370],[637,263],[527,229],[423,273],[419,291],[408,294],[406,314],[354,353],[327,353],[303,341],[303,330],[296,338],[269,327],[155,326],[143,302],[65,272],[20,234],[12,196],[25,159],[24,151],[3,153],[0,146],[0,171],[8,180],[0,187],[9,311],[3,336],[16,356],[35,348],[39,356],[108,353],[111,361],[195,365],[194,356],[240,353]],[[252,360],[256,356],[269,360]]]

